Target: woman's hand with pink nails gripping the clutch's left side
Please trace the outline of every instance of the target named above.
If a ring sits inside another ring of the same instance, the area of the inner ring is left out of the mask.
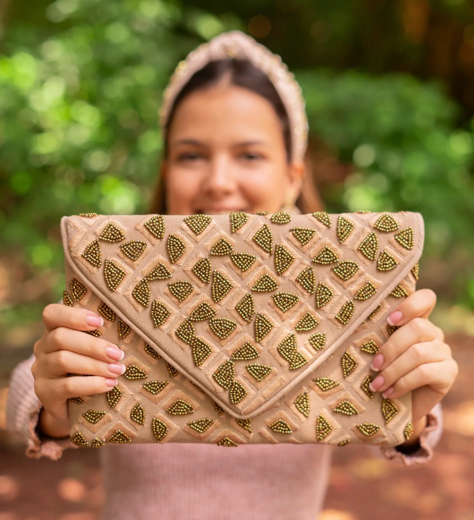
[[[125,372],[124,353],[113,343],[86,334],[101,327],[101,316],[87,309],[51,304],[43,311],[46,332],[35,343],[31,368],[43,405],[38,429],[51,437],[69,436],[67,399],[101,394]],[[84,374],[67,376],[68,373]]]

